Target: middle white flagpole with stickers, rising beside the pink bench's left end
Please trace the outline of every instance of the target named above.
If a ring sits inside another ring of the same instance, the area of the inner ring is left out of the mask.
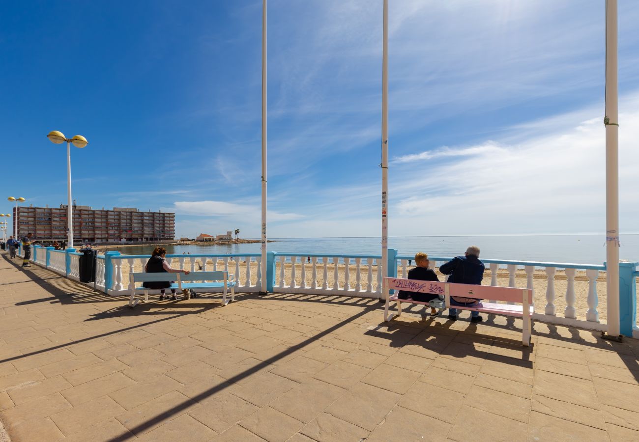
[[[389,2],[384,0],[384,31],[381,61],[381,276],[389,275]],[[382,278],[383,281],[383,278]],[[389,291],[382,283],[382,296]]]

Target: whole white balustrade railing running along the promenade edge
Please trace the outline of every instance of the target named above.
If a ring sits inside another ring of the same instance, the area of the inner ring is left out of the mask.
[[[35,250],[32,250],[32,259],[33,252]],[[67,252],[38,247],[35,263],[47,266],[48,253],[50,269],[79,280],[81,254]],[[22,247],[18,253],[23,256]],[[109,255],[108,259],[104,255],[98,256],[93,287],[100,291],[108,288],[109,294],[128,294],[134,288],[130,287],[128,275],[144,271],[148,258],[149,255]],[[449,259],[430,257],[429,265],[436,270],[438,263]],[[409,263],[414,265],[412,260],[407,255],[397,256],[397,275],[407,277],[411,267]],[[267,277],[263,275],[259,254],[167,255],[167,261],[181,270],[227,271],[229,278],[236,282],[236,291],[258,292],[262,278]],[[535,294],[539,296],[535,300],[533,319],[606,330],[604,324],[599,324],[597,296],[597,278],[600,271],[605,271],[605,266],[495,259],[482,261],[486,264],[491,286],[526,287],[532,289],[534,297]],[[109,262],[111,265],[107,267]],[[272,277],[273,291],[277,293],[381,297],[381,258],[378,256],[276,253],[269,258],[269,265],[272,267],[268,276]],[[636,270],[634,275],[636,277]],[[484,284],[487,282],[488,278],[485,278]]]

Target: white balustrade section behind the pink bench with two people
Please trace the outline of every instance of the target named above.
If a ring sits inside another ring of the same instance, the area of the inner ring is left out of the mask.
[[[399,269],[397,275],[406,274],[406,260],[409,256],[397,256]],[[450,258],[429,257],[430,266],[435,270],[436,262],[445,263]],[[597,278],[599,271],[605,271],[604,266],[589,264],[560,264],[560,263],[528,263],[526,261],[500,261],[482,259],[486,265],[486,273],[490,272],[491,286],[522,287],[532,289],[533,299],[536,293],[545,293],[545,298],[535,303],[533,319],[548,323],[559,323],[574,326],[586,326],[596,330],[605,330],[606,326],[599,324],[597,305]],[[501,271],[500,271],[501,270]],[[440,277],[440,279],[443,279]],[[525,281],[525,282],[524,282]],[[484,277],[483,284],[487,284]],[[576,289],[579,284],[580,290]],[[556,290],[561,287],[564,296],[557,300]],[[545,290],[544,290],[545,289]],[[578,300],[576,293],[583,296]],[[494,301],[493,301],[494,302]],[[557,314],[557,304],[563,307],[562,316]]]

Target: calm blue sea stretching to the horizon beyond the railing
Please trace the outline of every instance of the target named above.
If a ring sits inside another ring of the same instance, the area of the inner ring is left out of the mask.
[[[291,254],[381,255],[379,237],[364,238],[269,238],[271,252]],[[481,249],[481,257],[508,261],[544,263],[603,264],[606,237],[601,234],[570,235],[486,235],[486,236],[392,236],[389,248],[399,255],[425,252],[431,256],[462,255],[469,245]],[[620,236],[620,259],[639,261],[639,234]],[[243,254],[259,253],[259,243],[215,245],[166,245],[167,254]],[[148,255],[153,246],[121,247],[122,254]]]

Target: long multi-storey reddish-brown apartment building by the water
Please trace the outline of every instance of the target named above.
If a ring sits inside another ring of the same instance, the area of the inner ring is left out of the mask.
[[[33,232],[39,241],[66,241],[67,206],[59,208],[13,208],[20,238]],[[114,207],[113,210],[73,206],[73,238],[75,243],[115,243],[120,241],[173,241],[175,213],[139,211]]]

